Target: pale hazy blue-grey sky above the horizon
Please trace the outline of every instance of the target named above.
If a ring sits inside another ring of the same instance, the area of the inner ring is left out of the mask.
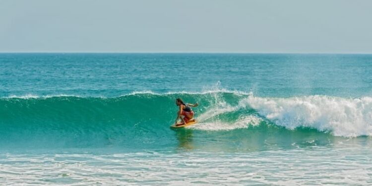
[[[372,0],[0,0],[0,52],[372,53]]]

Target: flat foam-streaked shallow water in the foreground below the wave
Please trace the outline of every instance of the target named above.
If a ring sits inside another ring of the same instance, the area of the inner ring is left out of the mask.
[[[1,154],[0,185],[371,185],[371,148]]]

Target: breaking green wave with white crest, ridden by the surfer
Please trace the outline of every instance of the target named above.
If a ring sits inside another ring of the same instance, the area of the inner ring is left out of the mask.
[[[175,133],[169,125],[176,117],[174,100],[178,97],[199,103],[194,108],[199,124]],[[310,133],[317,138],[372,135],[371,97],[263,98],[240,92],[144,92],[114,98],[10,97],[1,98],[0,105],[0,145],[4,149],[164,148],[189,140],[192,132],[204,133],[197,140],[205,143],[217,139],[216,135],[226,142],[273,134],[305,140]]]

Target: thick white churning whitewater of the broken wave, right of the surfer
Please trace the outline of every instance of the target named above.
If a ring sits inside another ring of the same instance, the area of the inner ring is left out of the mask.
[[[240,101],[277,125],[289,129],[312,127],[336,136],[372,135],[372,98],[302,96],[261,98],[253,95]]]

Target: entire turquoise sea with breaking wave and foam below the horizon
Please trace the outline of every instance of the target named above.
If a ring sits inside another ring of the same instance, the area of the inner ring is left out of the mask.
[[[372,55],[0,54],[1,185],[372,185],[371,136]]]

